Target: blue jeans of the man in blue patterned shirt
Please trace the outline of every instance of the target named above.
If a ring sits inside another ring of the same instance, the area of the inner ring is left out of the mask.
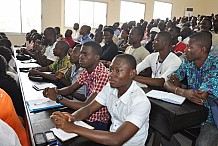
[[[218,146],[218,129],[215,124],[201,126],[195,146]]]

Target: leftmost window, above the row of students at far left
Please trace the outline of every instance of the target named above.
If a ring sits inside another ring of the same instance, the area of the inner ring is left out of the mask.
[[[41,32],[40,0],[0,0],[0,31],[27,33]]]

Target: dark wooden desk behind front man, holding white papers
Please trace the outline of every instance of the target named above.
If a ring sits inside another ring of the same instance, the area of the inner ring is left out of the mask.
[[[146,93],[150,89],[143,89]],[[160,146],[162,137],[170,139],[178,130],[200,124],[207,119],[208,109],[186,100],[182,105],[149,98],[150,126],[155,130],[153,146]]]

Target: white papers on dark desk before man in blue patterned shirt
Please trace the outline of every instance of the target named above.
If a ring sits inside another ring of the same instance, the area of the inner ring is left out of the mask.
[[[183,96],[158,90],[151,90],[150,92],[146,93],[146,95],[151,98],[156,98],[179,105],[181,105],[185,101],[185,97]]]

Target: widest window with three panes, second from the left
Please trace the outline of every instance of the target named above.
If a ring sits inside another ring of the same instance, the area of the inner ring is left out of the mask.
[[[102,2],[65,0],[65,27],[73,27],[74,23],[97,28],[106,25],[107,4]]]

